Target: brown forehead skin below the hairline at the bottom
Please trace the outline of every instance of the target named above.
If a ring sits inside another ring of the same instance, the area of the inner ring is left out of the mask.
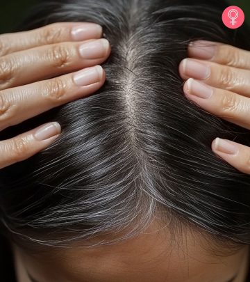
[[[89,249],[78,242],[72,249],[31,254],[13,245],[18,282],[32,282],[27,271],[35,282],[245,281],[249,246],[215,256],[205,235],[182,232],[173,242],[169,231],[159,226],[155,221],[132,239]]]

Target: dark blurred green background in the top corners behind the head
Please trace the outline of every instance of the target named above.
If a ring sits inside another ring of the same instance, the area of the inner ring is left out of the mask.
[[[93,0],[94,1],[94,0]],[[219,0],[218,0],[219,1]],[[28,8],[38,0],[10,0],[2,1],[0,9],[0,33],[12,31],[13,27],[25,17]],[[209,0],[208,0],[209,3]],[[250,0],[228,0],[231,5],[239,6],[244,10],[247,21],[250,23]]]

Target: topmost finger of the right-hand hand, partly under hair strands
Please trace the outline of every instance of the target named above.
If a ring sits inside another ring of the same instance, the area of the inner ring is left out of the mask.
[[[197,40],[188,47],[188,56],[222,65],[250,70],[250,52],[219,42]]]

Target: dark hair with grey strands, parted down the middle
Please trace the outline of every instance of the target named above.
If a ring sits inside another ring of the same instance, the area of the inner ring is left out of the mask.
[[[97,93],[1,132],[7,139],[53,120],[63,129],[46,150],[1,169],[3,235],[36,246],[110,235],[99,242],[110,244],[158,218],[172,234],[185,226],[219,244],[250,243],[250,175],[211,150],[217,136],[250,146],[249,130],[190,102],[178,75],[192,40],[250,49],[246,24],[237,30],[223,25],[226,6],[70,0],[43,1],[33,11],[24,29],[66,21],[101,24],[112,53]]]

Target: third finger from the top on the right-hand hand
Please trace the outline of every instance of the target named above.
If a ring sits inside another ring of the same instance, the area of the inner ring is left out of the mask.
[[[183,90],[189,100],[199,104],[206,111],[250,130],[249,98],[191,78],[185,82]]]

